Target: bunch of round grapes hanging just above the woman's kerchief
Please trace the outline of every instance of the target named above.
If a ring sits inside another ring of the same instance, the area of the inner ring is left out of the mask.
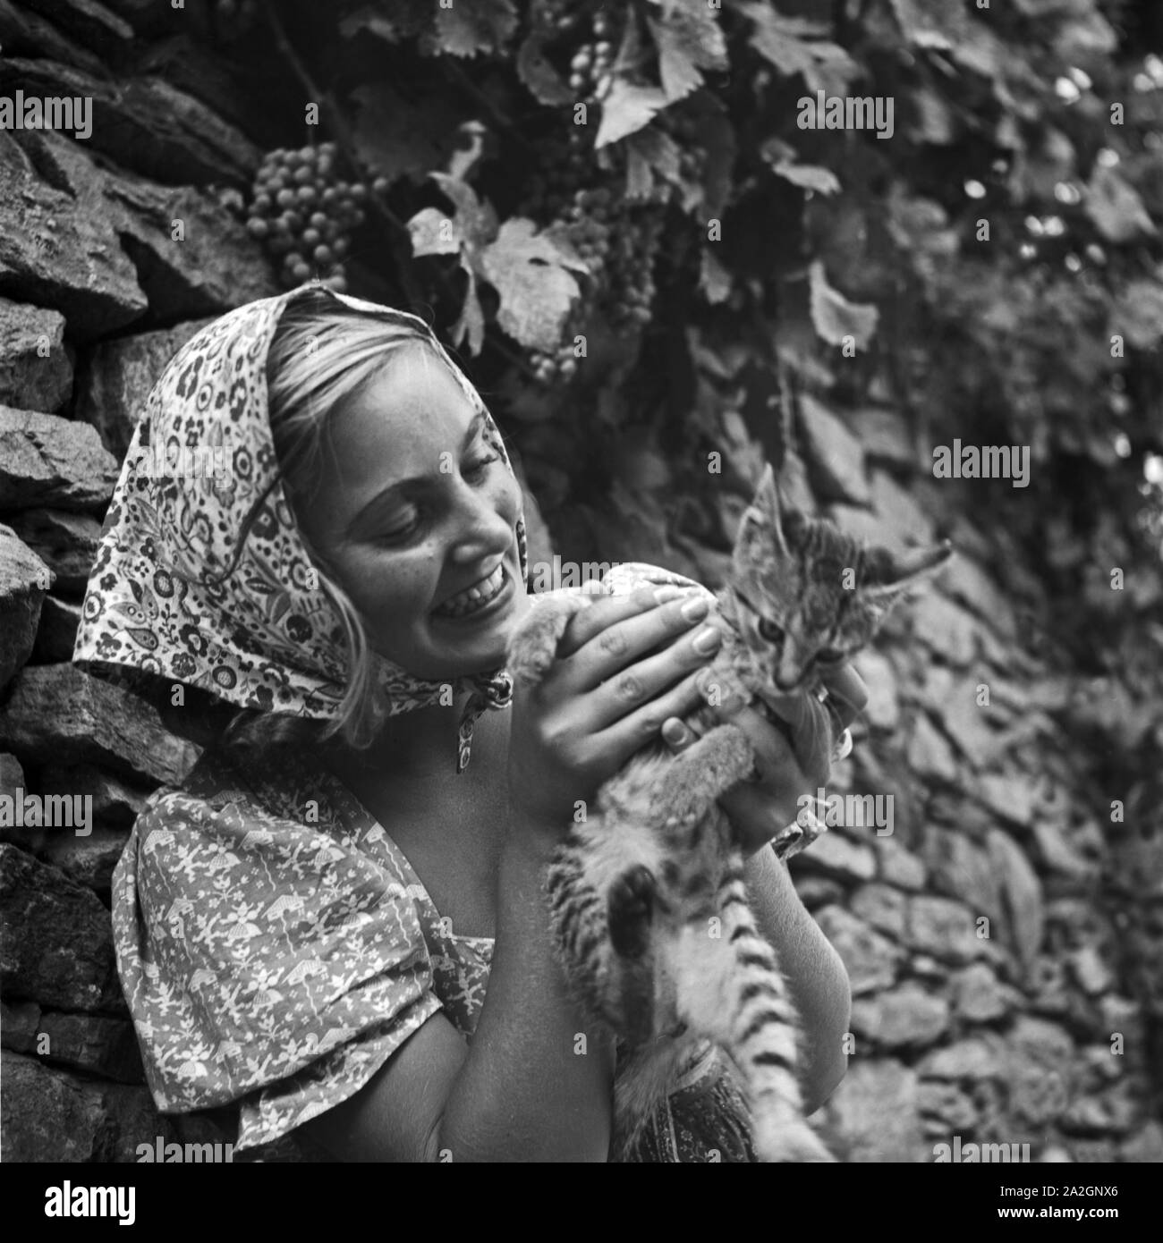
[[[255,177],[246,227],[281,265],[287,288],[317,276],[342,293],[343,259],[352,232],[363,224],[363,206],[379,193],[362,181],[340,178],[335,143],[267,152]]]

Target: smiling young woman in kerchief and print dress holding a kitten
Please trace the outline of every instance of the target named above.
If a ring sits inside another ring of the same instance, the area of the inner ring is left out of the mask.
[[[158,466],[199,461],[226,469]],[[616,1050],[571,1001],[542,874],[576,800],[660,730],[693,741],[674,718],[719,634],[660,571],[514,697],[526,572],[500,435],[412,316],[307,286],[198,333],[151,394],[75,659],[152,682],[178,727],[233,713],[138,818],[113,917],[158,1108],[228,1110],[235,1160],[607,1160]],[[760,756],[724,807],[810,1110],[845,1071],[848,983],[766,843],[826,777],[815,710],[789,701],[791,745],[720,710]],[[637,1158],[750,1160],[741,1117],[700,1059]]]

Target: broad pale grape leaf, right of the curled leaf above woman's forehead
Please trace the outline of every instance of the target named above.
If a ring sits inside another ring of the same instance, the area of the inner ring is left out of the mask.
[[[536,227],[522,216],[506,220],[480,254],[480,273],[500,295],[501,328],[522,346],[550,352],[581,292],[568,268],[586,266]]]

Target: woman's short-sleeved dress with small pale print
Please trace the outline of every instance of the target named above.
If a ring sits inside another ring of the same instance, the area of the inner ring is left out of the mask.
[[[328,1160],[297,1132],[438,1009],[471,1042],[493,940],[452,933],[384,828],[302,752],[206,752],[113,876],[122,987],[162,1112],[236,1109],[235,1161]],[[754,1160],[709,1048],[636,1161]]]

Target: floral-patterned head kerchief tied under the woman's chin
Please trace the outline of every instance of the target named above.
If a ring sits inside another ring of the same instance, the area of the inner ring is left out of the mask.
[[[277,472],[267,416],[266,357],[287,303],[323,290],[345,306],[407,322],[456,377],[509,471],[480,395],[424,322],[312,283],[231,311],[178,352],[133,433],[85,594],[73,660],[95,672],[155,674],[239,707],[333,720],[345,695],[340,615],[313,573]],[[527,578],[524,518],[516,525]],[[473,723],[506,707],[504,670],[450,682],[415,677],[372,654],[389,715],[470,691],[456,771]],[[116,676],[116,675],[114,675]]]

